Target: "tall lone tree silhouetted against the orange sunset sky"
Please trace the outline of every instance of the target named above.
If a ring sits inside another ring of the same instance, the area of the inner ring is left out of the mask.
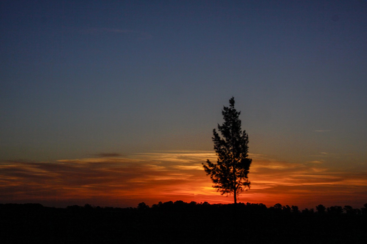
[[[214,150],[218,156],[217,163],[212,163],[208,159],[203,163],[204,170],[210,175],[213,187],[224,194],[233,194],[234,202],[237,203],[237,196],[250,188],[248,181],[248,171],[252,159],[248,158],[248,135],[241,129],[241,120],[235,109],[235,99],[229,100],[229,107],[224,107],[222,115],[224,123],[218,124],[218,131],[222,138],[213,129],[212,140]]]

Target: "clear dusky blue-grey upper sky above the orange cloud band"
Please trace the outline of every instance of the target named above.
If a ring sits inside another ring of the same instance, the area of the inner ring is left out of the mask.
[[[250,153],[367,170],[367,1],[0,11],[1,160],[210,151],[234,96]]]

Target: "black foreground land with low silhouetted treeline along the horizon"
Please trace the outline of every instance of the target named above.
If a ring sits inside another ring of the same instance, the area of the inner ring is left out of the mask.
[[[367,214],[262,204],[0,204],[0,243],[367,243]]]

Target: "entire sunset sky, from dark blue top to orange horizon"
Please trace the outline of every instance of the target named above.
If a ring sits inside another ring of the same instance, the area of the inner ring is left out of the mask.
[[[0,203],[231,203],[201,163],[235,97],[240,202],[367,203],[367,1],[1,1]]]

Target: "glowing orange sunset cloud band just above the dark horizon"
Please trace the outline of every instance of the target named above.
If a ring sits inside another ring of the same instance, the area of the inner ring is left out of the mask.
[[[297,205],[300,208],[345,206],[367,202],[367,172],[357,167],[335,169],[320,161],[281,162],[266,155],[253,159],[251,189],[239,202]],[[158,202],[232,203],[211,187],[201,163],[216,160],[212,151],[155,151],[56,162],[0,163],[0,203],[41,203],[66,207],[84,205],[136,207]]]

